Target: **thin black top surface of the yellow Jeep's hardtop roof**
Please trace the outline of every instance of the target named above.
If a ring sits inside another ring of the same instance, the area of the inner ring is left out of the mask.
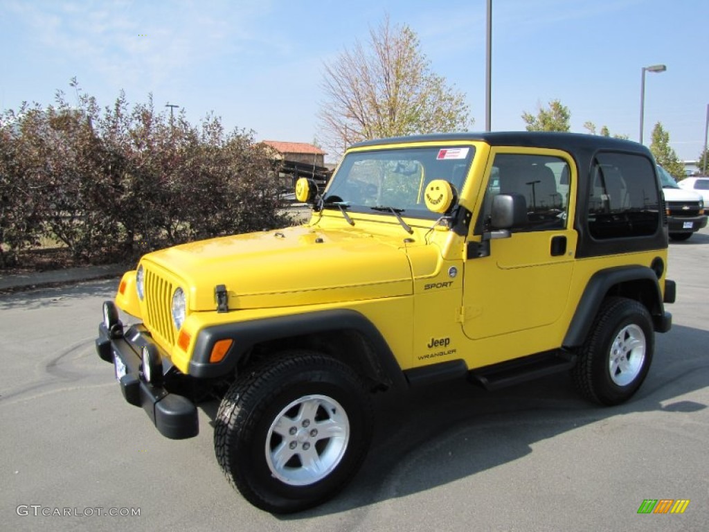
[[[632,140],[604,137],[602,135],[586,135],[584,133],[560,133],[557,131],[494,131],[491,133],[433,133],[429,135],[411,135],[408,137],[393,137],[377,140],[364,140],[352,145],[352,148],[381,146],[387,144],[411,142],[445,142],[445,141],[481,140],[491,146],[527,146],[530,148],[554,148],[574,152],[576,150],[620,150],[625,152],[650,155],[642,144]]]

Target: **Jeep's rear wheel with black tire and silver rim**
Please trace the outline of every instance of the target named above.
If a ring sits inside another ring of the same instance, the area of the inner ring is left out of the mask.
[[[653,350],[652,318],[645,306],[634,299],[610,297],[598,311],[571,377],[586,399],[606,406],[620,404],[640,388]]]

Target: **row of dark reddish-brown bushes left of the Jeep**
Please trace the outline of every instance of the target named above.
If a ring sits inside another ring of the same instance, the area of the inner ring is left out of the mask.
[[[192,126],[152,97],[77,101],[57,92],[54,106],[0,115],[1,267],[45,239],[105,262],[288,223],[277,167],[252,132],[225,133],[215,116]]]

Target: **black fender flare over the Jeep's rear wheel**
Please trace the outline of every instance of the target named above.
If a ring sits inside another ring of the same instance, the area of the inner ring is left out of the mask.
[[[647,289],[644,289],[644,297],[642,299],[633,297],[633,294],[627,294],[622,291],[619,293],[613,292],[617,287],[623,287],[629,283],[637,282],[640,282],[644,287],[653,287],[653,291],[649,294],[649,297]],[[566,331],[566,336],[564,336],[564,343],[562,344],[564,348],[576,348],[584,343],[588,331],[593,324],[593,320],[596,318],[596,314],[598,314],[598,309],[601,308],[603,299],[605,299],[609,293],[625,295],[644,303],[652,315],[653,321],[656,323],[656,329],[658,328],[657,323],[661,321],[661,318],[666,314],[662,304],[662,293],[659,281],[652,268],[635,265],[618,266],[601,270],[593,274],[591,279],[588,280],[588,284],[586,284],[584,294],[581,296],[581,300],[576,306],[574,318],[571,319],[569,329]]]

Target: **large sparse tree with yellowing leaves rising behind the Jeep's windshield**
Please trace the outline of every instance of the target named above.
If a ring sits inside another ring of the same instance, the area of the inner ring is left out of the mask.
[[[465,96],[432,72],[418,36],[389,17],[324,67],[323,142],[341,153],[359,140],[462,131],[473,123]]]

